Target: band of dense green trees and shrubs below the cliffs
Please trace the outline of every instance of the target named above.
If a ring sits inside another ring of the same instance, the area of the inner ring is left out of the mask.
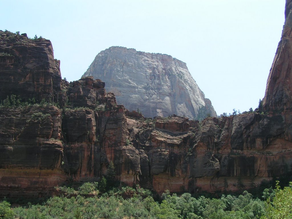
[[[103,182],[106,183],[106,182]],[[100,192],[106,185],[84,183],[76,190],[59,187],[59,196],[43,204],[28,204],[11,208],[7,201],[0,202],[0,218],[159,218],[159,219],[253,219],[292,218],[292,187],[267,189],[263,198],[254,199],[244,191],[239,196],[222,195],[221,198],[194,198],[189,193],[181,196],[162,194],[155,201],[149,190],[131,187],[114,188]]]

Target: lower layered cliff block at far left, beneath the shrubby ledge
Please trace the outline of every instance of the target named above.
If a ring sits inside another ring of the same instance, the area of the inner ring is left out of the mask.
[[[60,138],[54,106],[0,109],[0,196],[49,195],[65,181]]]

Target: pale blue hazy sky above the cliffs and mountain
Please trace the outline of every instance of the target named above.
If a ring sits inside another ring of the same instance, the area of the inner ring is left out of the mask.
[[[285,9],[285,0],[0,2],[0,29],[51,40],[67,81],[110,46],[168,54],[187,64],[218,115],[263,99]]]

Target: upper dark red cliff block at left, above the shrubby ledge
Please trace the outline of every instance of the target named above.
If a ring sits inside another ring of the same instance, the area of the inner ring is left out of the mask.
[[[0,31],[0,72],[0,100],[14,94],[26,101],[59,101],[60,61],[49,40]]]

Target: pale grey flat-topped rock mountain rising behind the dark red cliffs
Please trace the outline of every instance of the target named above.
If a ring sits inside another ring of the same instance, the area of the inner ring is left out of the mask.
[[[138,109],[145,117],[217,116],[187,65],[170,55],[110,47],[95,57],[82,77],[91,75],[105,81],[119,104],[130,111]]]

